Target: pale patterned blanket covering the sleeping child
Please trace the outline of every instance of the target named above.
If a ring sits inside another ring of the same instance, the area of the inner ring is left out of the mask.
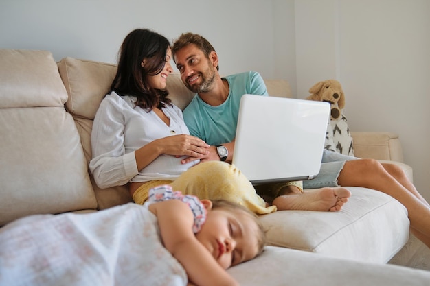
[[[185,286],[157,217],[139,204],[32,215],[0,228],[0,285]]]

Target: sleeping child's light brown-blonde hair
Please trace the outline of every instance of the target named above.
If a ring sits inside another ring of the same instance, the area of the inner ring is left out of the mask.
[[[228,200],[211,200],[212,201],[212,209],[216,208],[224,208],[227,211],[233,211],[236,213],[241,213],[248,215],[251,217],[253,222],[255,222],[258,226],[257,230],[257,242],[258,242],[258,254],[261,254],[263,251],[264,245],[266,244],[266,231],[264,230],[264,227],[262,226],[260,219],[258,219],[258,215],[253,213],[252,211],[249,211],[248,208],[245,208],[245,206],[241,206],[240,204],[237,204],[236,202],[230,202]]]

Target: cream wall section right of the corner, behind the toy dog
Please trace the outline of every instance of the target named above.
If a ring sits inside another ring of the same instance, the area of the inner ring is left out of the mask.
[[[297,94],[336,78],[351,130],[400,134],[430,200],[430,1],[295,1]]]

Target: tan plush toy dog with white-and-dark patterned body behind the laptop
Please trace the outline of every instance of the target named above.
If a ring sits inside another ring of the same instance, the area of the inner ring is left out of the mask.
[[[345,107],[345,95],[342,86],[337,80],[324,80],[317,82],[309,89],[309,100],[328,102],[330,104],[330,121],[326,132],[325,148],[354,156],[352,137],[348,128],[346,117],[342,111]]]

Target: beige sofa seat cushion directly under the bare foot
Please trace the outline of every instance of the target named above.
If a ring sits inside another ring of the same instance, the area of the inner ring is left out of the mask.
[[[387,263],[409,238],[406,208],[379,191],[348,189],[352,196],[339,212],[277,211],[262,215],[268,244]]]

